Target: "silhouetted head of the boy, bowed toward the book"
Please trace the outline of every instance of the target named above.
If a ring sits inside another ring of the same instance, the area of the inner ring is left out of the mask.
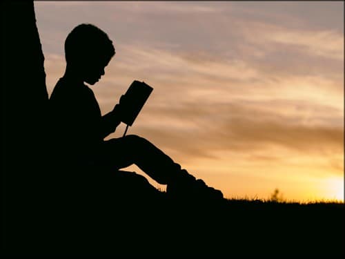
[[[75,27],[65,41],[68,67],[88,84],[95,84],[104,75],[104,68],[114,55],[115,48],[106,32],[92,24]]]

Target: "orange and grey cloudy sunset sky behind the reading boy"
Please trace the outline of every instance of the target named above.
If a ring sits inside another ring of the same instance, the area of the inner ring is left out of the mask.
[[[344,1],[34,7],[49,94],[65,69],[66,36],[95,24],[117,52],[92,86],[102,113],[135,79],[154,88],[128,134],[226,198],[267,199],[279,189],[286,200],[344,201]]]

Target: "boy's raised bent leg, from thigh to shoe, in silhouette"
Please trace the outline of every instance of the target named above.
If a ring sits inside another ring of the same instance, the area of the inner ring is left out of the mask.
[[[137,135],[127,135],[103,143],[103,159],[107,164],[121,169],[136,164],[159,184],[167,184],[167,193],[184,198],[186,195],[204,198],[223,198],[221,191],[196,180],[168,155],[148,140]]]

